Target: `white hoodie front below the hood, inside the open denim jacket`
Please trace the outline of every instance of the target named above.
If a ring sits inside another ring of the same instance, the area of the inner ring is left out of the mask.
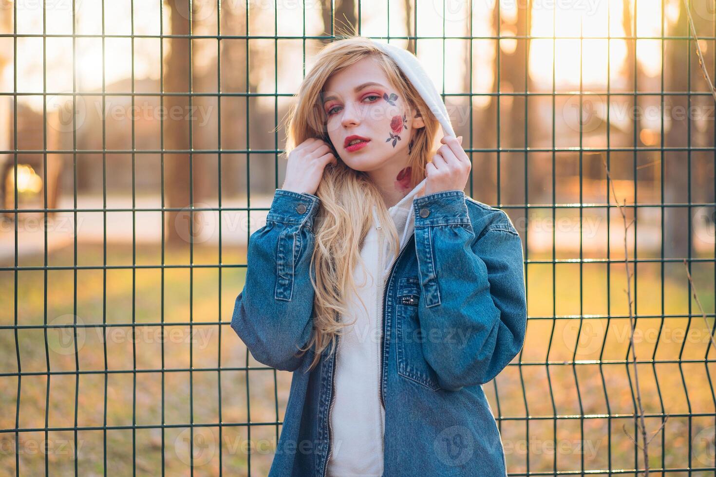
[[[398,236],[402,237],[400,248],[415,229],[412,200],[425,183],[426,180],[420,182],[388,209]],[[385,280],[397,252],[390,251],[390,241],[383,233],[375,208],[373,218],[374,226],[361,249],[366,267],[359,262],[353,272],[358,296],[364,305],[351,294],[347,296],[349,313],[341,316],[342,323],[353,320],[355,323],[345,328],[338,345],[335,400],[331,411],[333,450],[328,463],[328,475],[333,477],[379,477],[383,472],[385,410],[378,395],[381,305]],[[367,272],[365,279],[364,271]]]

